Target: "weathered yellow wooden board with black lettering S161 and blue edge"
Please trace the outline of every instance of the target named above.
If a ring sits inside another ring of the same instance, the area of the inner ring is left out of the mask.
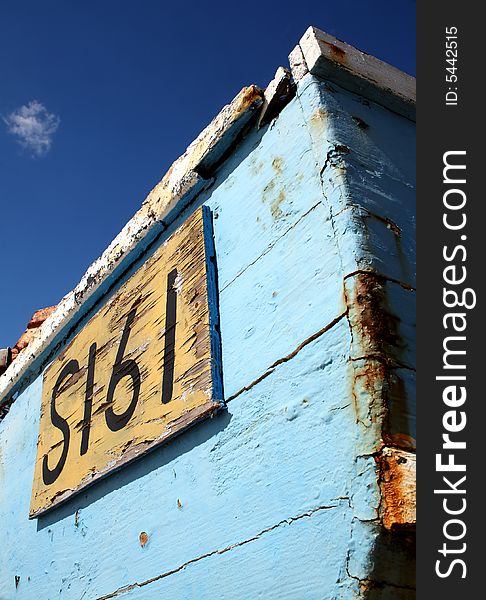
[[[31,518],[220,408],[210,219],[198,209],[46,369]]]

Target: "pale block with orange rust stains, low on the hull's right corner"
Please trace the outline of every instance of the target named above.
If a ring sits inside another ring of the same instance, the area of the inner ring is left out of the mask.
[[[383,448],[375,458],[382,494],[381,518],[387,529],[416,523],[415,454]]]

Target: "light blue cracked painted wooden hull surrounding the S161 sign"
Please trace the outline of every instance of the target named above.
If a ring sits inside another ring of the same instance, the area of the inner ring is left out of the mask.
[[[238,145],[188,209],[213,213],[227,410],[28,521],[35,379],[0,423],[2,599],[357,597],[373,569],[381,425],[366,423],[369,391],[355,385],[366,348],[344,279],[365,268],[413,283],[412,134],[306,77]],[[413,292],[387,289],[411,394]],[[412,409],[397,427],[412,430]]]

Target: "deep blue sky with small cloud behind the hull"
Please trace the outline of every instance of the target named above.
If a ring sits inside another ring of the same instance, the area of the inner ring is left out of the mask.
[[[415,74],[415,2],[5,0],[0,347],[57,304],[150,189],[308,25]]]

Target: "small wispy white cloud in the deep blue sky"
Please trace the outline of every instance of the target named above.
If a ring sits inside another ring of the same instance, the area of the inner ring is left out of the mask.
[[[44,156],[49,152],[52,136],[60,123],[59,117],[48,112],[37,100],[17,108],[3,120],[8,132],[34,156]]]

